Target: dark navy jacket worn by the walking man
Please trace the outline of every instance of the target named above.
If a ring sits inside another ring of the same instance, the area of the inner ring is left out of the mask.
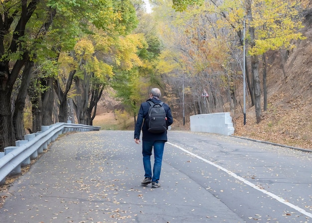
[[[148,99],[147,101],[153,101],[154,103],[161,102],[160,100],[156,99]],[[156,141],[156,140],[163,140],[167,141],[167,131],[163,133],[151,133],[148,131],[148,113],[150,109],[150,103],[149,102],[143,102],[141,104],[139,114],[138,114],[138,120],[135,126],[135,139],[140,139],[140,133],[141,133],[141,127],[142,127],[142,140],[145,141]],[[167,126],[171,125],[173,123],[172,115],[170,107],[163,103],[162,107],[164,108],[167,116]],[[143,125],[142,125],[143,124]]]

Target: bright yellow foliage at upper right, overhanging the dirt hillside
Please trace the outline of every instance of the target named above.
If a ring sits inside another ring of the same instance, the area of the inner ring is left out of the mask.
[[[300,32],[304,27],[298,16],[299,1],[254,0],[253,19],[248,21],[255,28],[255,46],[250,55],[261,55],[268,50],[295,47],[292,40],[304,39]]]

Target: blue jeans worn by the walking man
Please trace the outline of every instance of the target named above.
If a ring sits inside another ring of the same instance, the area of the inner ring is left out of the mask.
[[[143,165],[145,170],[145,177],[152,178],[152,182],[158,183],[161,171],[161,162],[162,162],[162,154],[164,141],[144,141],[143,140]],[[151,156],[152,149],[154,147],[154,168],[153,168],[153,176],[152,176],[152,166],[151,166]]]

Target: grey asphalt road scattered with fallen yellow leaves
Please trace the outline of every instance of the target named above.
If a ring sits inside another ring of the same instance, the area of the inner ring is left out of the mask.
[[[0,223],[312,222],[312,153],[169,131],[152,189],[141,147],[133,131],[59,137],[9,188]]]

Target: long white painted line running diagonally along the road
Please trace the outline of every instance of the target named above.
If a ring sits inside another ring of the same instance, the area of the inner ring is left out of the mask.
[[[252,187],[252,188],[254,188],[254,189],[258,190],[258,191],[261,191],[262,193],[264,193],[264,194],[266,194],[266,195],[268,195],[268,196],[274,198],[274,199],[277,200],[278,202],[281,202],[282,204],[287,205],[287,206],[289,206],[289,207],[291,207],[291,208],[297,210],[298,212],[300,212],[300,213],[302,213],[302,214],[304,214],[304,215],[306,215],[306,216],[312,218],[312,214],[311,214],[310,212],[307,212],[306,210],[304,210],[304,209],[302,209],[302,208],[299,208],[298,206],[289,203],[289,202],[286,201],[285,199],[280,198],[279,196],[277,196],[277,195],[275,195],[275,194],[272,194],[271,192],[268,192],[267,190],[264,190],[264,189],[259,188],[257,185],[254,185],[253,183],[251,183],[251,182],[249,182],[249,181],[246,181],[244,178],[242,178],[242,177],[240,177],[240,176],[234,174],[233,172],[231,172],[231,171],[229,171],[229,170],[227,170],[227,169],[225,169],[225,168],[223,168],[223,167],[221,167],[221,166],[219,166],[219,165],[217,165],[217,164],[215,164],[215,163],[212,163],[212,162],[210,162],[209,160],[206,160],[206,159],[204,159],[204,158],[202,158],[202,157],[200,157],[200,156],[197,156],[196,154],[194,154],[194,153],[192,153],[192,152],[189,152],[188,150],[185,150],[185,149],[183,149],[183,148],[180,147],[180,146],[177,146],[177,145],[172,144],[172,143],[169,143],[169,142],[166,142],[166,143],[168,143],[168,144],[170,144],[171,146],[174,146],[174,147],[176,147],[176,148],[178,148],[178,149],[184,151],[185,153],[188,153],[189,155],[191,155],[191,156],[193,156],[193,157],[196,157],[197,159],[200,159],[200,160],[202,160],[202,161],[204,161],[204,162],[206,162],[206,163],[208,163],[208,164],[210,164],[210,165],[212,165],[212,166],[214,166],[214,167],[216,167],[216,168],[218,168],[218,169],[224,171],[225,173],[227,173],[227,174],[229,174],[230,176],[236,178],[237,180],[243,182],[244,184],[246,184],[246,185],[248,185],[248,186],[250,186],[250,187]]]

